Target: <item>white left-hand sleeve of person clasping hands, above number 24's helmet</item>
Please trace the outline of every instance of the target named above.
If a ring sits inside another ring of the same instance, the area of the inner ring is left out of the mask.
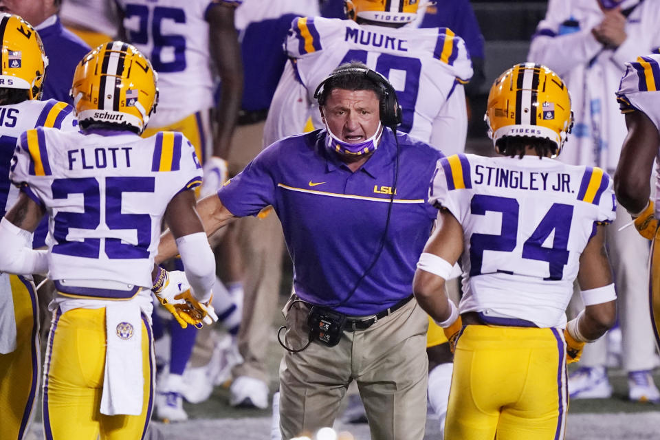
[[[564,76],[576,65],[588,63],[602,50],[603,45],[591,34],[591,29],[560,34],[560,26],[570,17],[570,1],[549,1],[545,19],[538,23],[536,34],[532,37],[527,61],[546,65],[559,76]]]

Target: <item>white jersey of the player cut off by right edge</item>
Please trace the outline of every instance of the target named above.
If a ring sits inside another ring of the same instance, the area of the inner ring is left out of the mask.
[[[626,63],[626,73],[617,91],[621,113],[641,111],[660,131],[660,54],[638,56]],[[655,213],[660,215],[660,148],[658,149],[655,181]]]

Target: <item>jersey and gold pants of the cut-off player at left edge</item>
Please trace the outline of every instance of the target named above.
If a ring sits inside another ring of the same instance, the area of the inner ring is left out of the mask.
[[[78,131],[73,108],[56,100],[0,106],[0,217],[19,190],[9,179],[21,133],[37,126]],[[31,277],[0,274],[0,439],[22,439],[39,384],[39,307]]]

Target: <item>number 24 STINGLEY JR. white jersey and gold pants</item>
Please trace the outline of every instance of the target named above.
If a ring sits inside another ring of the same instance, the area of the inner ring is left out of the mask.
[[[429,199],[463,227],[459,310],[483,323],[456,345],[446,438],[562,439],[564,311],[595,225],[615,219],[610,177],[547,157],[452,155]]]

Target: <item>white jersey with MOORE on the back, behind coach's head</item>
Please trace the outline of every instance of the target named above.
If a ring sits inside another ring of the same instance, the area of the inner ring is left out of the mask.
[[[316,87],[339,65],[360,61],[387,78],[397,91],[403,110],[399,130],[428,142],[434,121],[443,111],[456,113],[467,127],[464,98],[456,109],[444,108],[454,89],[472,78],[465,43],[448,28],[397,29],[304,17],[292,22],[285,49],[295,60],[296,77],[307,89],[307,102],[316,104]],[[314,126],[322,127],[318,109],[309,114]]]

